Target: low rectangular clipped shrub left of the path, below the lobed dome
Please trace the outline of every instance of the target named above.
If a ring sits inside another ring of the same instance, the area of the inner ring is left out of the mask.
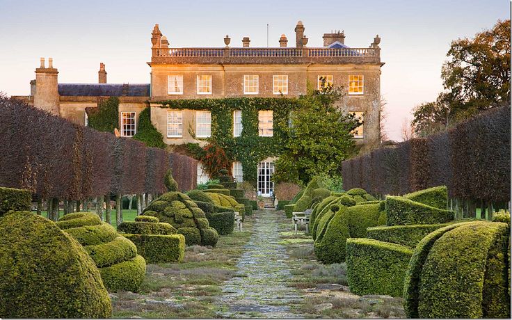
[[[135,243],[147,263],[181,262],[185,254],[183,234],[124,234]]]

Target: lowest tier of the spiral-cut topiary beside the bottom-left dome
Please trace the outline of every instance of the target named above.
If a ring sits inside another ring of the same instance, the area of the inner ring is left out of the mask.
[[[146,274],[146,262],[141,255],[131,260],[99,269],[105,287],[111,291],[138,291]]]

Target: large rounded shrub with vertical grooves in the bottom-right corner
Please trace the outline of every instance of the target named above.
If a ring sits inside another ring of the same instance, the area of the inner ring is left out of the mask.
[[[420,241],[404,285],[408,317],[509,318],[509,225],[474,221]]]

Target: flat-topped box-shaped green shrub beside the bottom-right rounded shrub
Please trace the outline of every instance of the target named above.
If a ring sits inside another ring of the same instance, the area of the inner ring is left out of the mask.
[[[374,239],[346,240],[346,271],[354,294],[401,296],[413,250]]]

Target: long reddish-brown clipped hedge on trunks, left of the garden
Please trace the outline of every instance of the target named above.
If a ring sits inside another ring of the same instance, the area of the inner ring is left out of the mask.
[[[168,168],[182,190],[196,184],[190,157],[74,125],[16,99],[0,97],[0,138],[0,186],[42,198],[163,193]]]

